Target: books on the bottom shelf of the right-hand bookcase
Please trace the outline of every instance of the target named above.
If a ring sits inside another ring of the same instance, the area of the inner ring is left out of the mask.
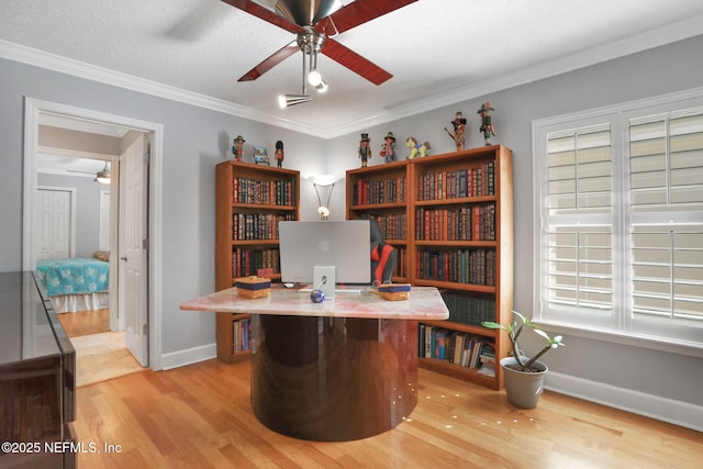
[[[495,367],[495,349],[486,337],[420,324],[419,356],[467,368]]]

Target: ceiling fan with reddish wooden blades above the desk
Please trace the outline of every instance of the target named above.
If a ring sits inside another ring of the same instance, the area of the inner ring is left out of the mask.
[[[347,5],[342,5],[339,0],[263,0],[258,3],[250,0],[222,1],[297,35],[295,41],[271,54],[238,81],[256,80],[298,51],[302,51],[303,60],[305,55],[311,57],[311,72],[315,70],[313,67],[316,67],[317,54],[322,53],[372,83],[381,85],[392,78],[392,75],[339,44],[332,36],[416,0],[356,0]],[[274,10],[259,3],[265,3]]]

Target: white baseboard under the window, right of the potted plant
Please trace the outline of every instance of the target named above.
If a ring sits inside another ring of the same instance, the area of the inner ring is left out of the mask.
[[[545,389],[703,432],[703,406],[549,371]]]

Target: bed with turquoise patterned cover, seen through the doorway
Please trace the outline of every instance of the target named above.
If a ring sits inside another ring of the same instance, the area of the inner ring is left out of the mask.
[[[57,313],[100,310],[110,304],[108,261],[82,257],[38,260],[36,273]]]

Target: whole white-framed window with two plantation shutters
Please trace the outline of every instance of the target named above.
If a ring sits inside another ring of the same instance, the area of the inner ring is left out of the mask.
[[[536,122],[535,316],[703,347],[703,90]]]

